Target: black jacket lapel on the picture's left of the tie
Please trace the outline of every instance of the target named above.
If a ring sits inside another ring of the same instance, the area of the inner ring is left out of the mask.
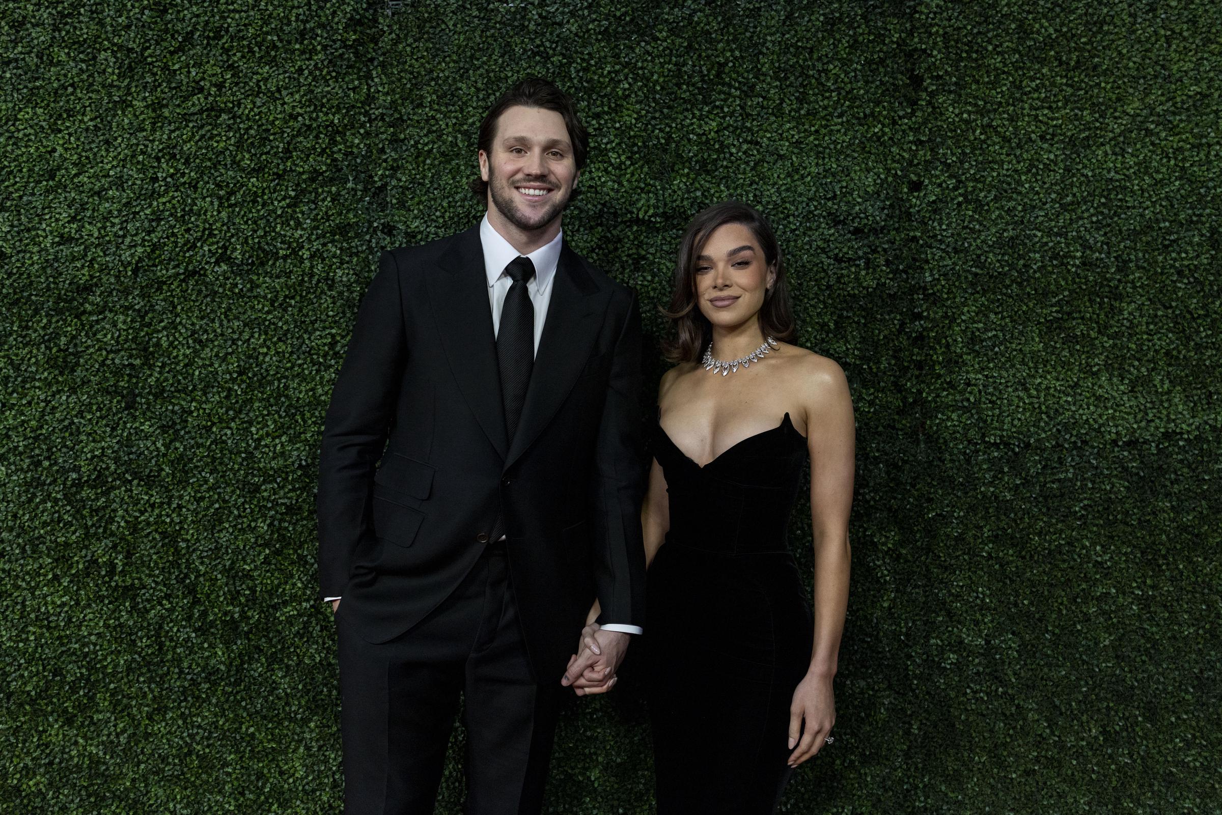
[[[456,235],[437,265],[440,274],[425,279],[446,360],[475,420],[503,458],[510,445],[479,227]]]

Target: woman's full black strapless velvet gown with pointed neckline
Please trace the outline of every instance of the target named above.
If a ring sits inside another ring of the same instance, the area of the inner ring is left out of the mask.
[[[811,616],[786,530],[807,440],[786,413],[698,467],[655,425],[671,528],[649,568],[657,813],[774,813]]]

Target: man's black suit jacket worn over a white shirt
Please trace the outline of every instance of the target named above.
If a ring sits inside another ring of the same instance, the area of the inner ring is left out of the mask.
[[[539,681],[558,681],[595,595],[604,621],[644,624],[639,309],[567,244],[551,285],[511,440],[479,228],[382,253],[318,489],[320,596],[342,595],[368,641],[435,609],[499,513]]]

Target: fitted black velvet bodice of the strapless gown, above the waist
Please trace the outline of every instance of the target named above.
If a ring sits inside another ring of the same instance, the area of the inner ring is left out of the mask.
[[[704,467],[655,423],[654,457],[670,495],[667,544],[723,555],[788,551],[786,530],[807,461],[807,439],[788,413]]]

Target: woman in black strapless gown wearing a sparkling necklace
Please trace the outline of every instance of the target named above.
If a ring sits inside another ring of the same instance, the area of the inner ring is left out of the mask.
[[[832,740],[853,406],[835,362],[783,342],[781,253],[749,206],[692,220],[667,314],[678,364],[642,510],[657,813],[772,813],[792,767]],[[808,458],[813,615],[786,545]]]

